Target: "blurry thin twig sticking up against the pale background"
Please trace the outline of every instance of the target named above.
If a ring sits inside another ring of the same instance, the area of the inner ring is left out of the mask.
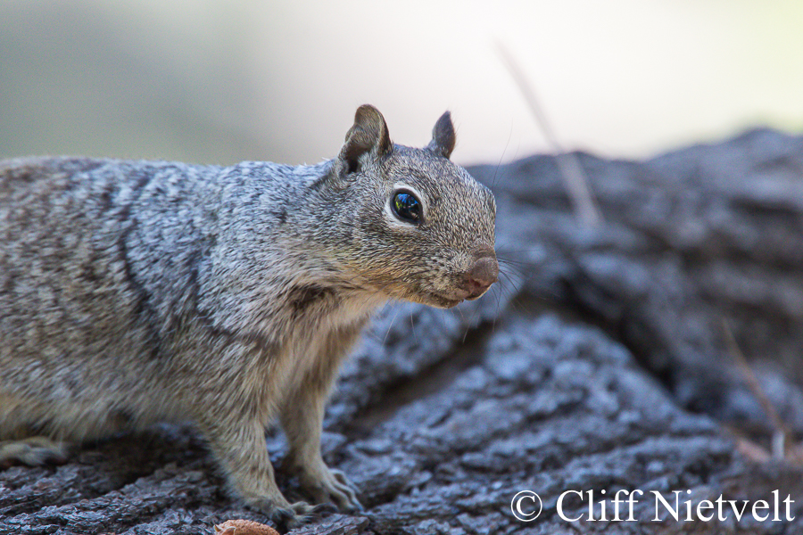
[[[526,78],[513,55],[509,53],[508,49],[500,41],[496,41],[496,51],[499,53],[505,67],[508,68],[510,76],[516,82],[522,96],[524,96],[530,111],[533,112],[535,124],[541,128],[543,136],[551,145],[552,151],[557,154],[560,176],[563,177],[572,202],[572,208],[575,210],[575,216],[585,226],[599,226],[602,222],[600,210],[594,200],[591,188],[588,186],[588,177],[585,175],[579,159],[575,153],[566,152],[559,144],[558,137],[555,136],[555,132],[552,130],[538,98],[535,96],[532,82]]]

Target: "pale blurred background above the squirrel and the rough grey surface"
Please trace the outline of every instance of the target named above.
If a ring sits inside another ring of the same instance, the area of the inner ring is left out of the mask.
[[[803,2],[0,2],[0,157],[231,163],[335,156],[373,103],[423,145],[449,109],[452,159],[560,144],[643,158],[745,128],[803,132]]]

